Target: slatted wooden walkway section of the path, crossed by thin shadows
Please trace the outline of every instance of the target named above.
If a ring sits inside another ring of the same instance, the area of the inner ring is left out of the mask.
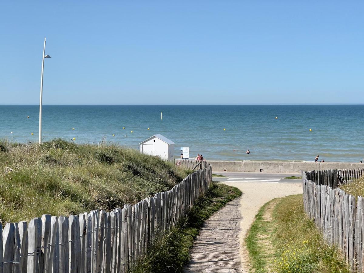
[[[240,201],[234,199],[205,222],[183,272],[248,272],[240,253]]]

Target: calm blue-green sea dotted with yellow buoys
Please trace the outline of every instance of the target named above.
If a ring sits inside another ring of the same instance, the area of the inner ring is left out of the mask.
[[[39,106],[0,106],[0,138],[37,142],[38,118]],[[202,153],[207,160],[313,161],[319,154],[325,161],[359,162],[363,118],[364,105],[43,106],[43,139],[104,138],[139,149],[139,142],[162,134],[176,143],[175,157],[190,147],[191,157]]]

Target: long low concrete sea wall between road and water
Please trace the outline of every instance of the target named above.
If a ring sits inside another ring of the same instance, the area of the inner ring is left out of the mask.
[[[293,161],[209,161],[213,171],[254,171],[267,173],[299,173],[311,170],[357,169],[364,163],[293,162]]]

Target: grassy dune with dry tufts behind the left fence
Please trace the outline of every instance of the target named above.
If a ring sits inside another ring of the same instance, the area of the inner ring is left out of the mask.
[[[110,210],[169,190],[186,175],[158,157],[117,145],[0,141],[0,220]]]

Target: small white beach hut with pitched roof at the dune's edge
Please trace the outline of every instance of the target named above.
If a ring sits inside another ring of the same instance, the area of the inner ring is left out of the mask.
[[[158,155],[163,160],[173,161],[174,142],[160,134],[139,143],[142,154]]]

